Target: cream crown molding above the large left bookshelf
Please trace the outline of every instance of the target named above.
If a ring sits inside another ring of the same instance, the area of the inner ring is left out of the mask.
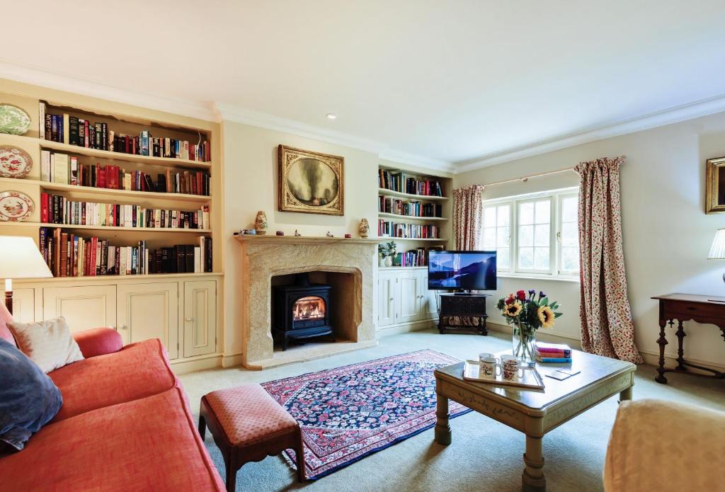
[[[157,111],[179,114],[199,120],[218,121],[212,105],[204,104],[201,101],[171,99],[138,91],[128,91],[127,89],[108,86],[94,80],[86,80],[67,73],[45,70],[3,58],[0,58],[0,78],[17,80],[17,82],[59,91],[83,94],[83,96],[133,104],[133,106],[156,109]]]

